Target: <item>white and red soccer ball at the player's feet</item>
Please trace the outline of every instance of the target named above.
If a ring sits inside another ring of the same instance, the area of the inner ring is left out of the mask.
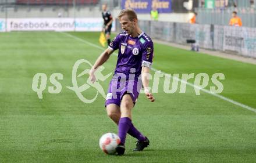
[[[115,154],[116,147],[121,142],[120,137],[115,133],[105,133],[99,139],[99,147],[106,154]]]

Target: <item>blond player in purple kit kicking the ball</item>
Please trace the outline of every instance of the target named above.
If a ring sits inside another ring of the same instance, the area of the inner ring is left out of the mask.
[[[109,59],[114,50],[119,49],[118,61],[109,84],[105,106],[108,116],[118,125],[121,142],[116,151],[119,155],[123,155],[127,133],[138,140],[134,151],[142,151],[150,144],[150,140],[131,123],[131,110],[137,101],[142,85],[148,100],[155,101],[148,88],[154,47],[151,38],[138,27],[138,19],[134,10],[121,10],[118,19],[125,31],[118,34],[95,61],[90,70],[90,80],[95,81],[96,69]]]

